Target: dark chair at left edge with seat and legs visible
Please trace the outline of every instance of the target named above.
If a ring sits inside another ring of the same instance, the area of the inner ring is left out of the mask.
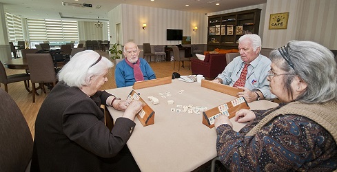
[[[1,63],[1,61],[0,61]],[[0,83],[3,83],[5,85],[5,91],[8,92],[8,84],[9,83],[16,83],[23,81],[25,83],[25,89],[27,89],[28,92],[30,90],[28,89],[28,83],[30,80],[29,74],[13,74],[13,75],[7,75],[6,69],[3,67],[3,64],[0,65]],[[1,85],[0,85],[1,86]]]

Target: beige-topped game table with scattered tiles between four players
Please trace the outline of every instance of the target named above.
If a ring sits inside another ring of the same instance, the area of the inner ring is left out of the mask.
[[[211,109],[236,97],[201,87],[201,83],[185,83],[177,79],[169,84],[135,91],[155,111],[153,125],[143,127],[135,118],[136,127],[127,141],[127,147],[141,171],[193,171],[216,157],[216,129],[203,125],[202,111],[201,114],[188,114],[187,111],[171,109],[183,109],[177,105]],[[126,99],[132,87],[109,89],[107,92]],[[167,96],[168,93],[171,96]],[[153,105],[148,96],[158,98],[159,104]],[[174,104],[168,105],[167,100],[174,100]],[[248,105],[251,109],[268,109],[278,104],[258,100]],[[123,115],[123,111],[116,111],[112,107],[108,107],[108,111],[114,120]],[[234,122],[233,118],[231,121],[235,131],[245,125]]]

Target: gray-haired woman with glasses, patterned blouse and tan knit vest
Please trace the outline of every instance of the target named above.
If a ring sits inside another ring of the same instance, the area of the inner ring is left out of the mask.
[[[334,171],[337,168],[336,61],[326,47],[290,41],[273,50],[268,80],[281,103],[267,111],[241,109],[232,129],[215,120],[218,158],[231,171]]]

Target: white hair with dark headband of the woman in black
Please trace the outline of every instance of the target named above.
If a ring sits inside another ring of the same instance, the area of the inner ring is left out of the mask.
[[[108,58],[92,50],[78,52],[70,61],[62,67],[59,72],[59,81],[63,81],[70,87],[83,87],[89,85],[92,76],[104,74],[107,69],[113,66],[113,63]]]

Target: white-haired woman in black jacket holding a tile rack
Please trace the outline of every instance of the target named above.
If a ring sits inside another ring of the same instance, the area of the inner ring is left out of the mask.
[[[132,166],[139,170],[132,156],[120,151],[127,149],[142,103],[99,91],[112,65],[108,58],[86,50],[61,69],[59,83],[37,114],[32,171],[133,171]],[[105,126],[101,105],[124,111],[112,131]]]

